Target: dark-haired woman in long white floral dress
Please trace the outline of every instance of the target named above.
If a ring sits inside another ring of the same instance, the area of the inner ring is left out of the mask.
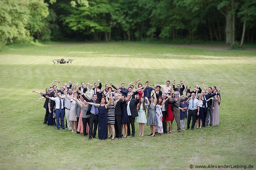
[[[163,114],[162,114],[162,108],[163,105],[165,104],[165,102],[169,99],[169,97],[167,97],[165,100],[163,100],[162,97],[158,97],[157,99],[157,105],[155,106],[155,112],[156,112],[156,116],[157,116],[157,133],[158,136],[162,135],[163,133]]]

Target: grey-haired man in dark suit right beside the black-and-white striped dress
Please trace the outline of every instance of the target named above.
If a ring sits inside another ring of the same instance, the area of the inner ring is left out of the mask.
[[[116,100],[118,100],[119,96],[118,94],[114,95],[114,102],[116,102]],[[126,101],[123,100],[119,100],[116,103],[116,108],[114,110],[114,130],[115,130],[115,137],[118,137],[118,139],[122,138],[122,111],[121,111],[121,105],[124,104]]]

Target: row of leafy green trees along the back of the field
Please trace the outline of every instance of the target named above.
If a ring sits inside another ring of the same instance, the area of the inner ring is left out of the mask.
[[[1,0],[1,46],[19,41],[255,42],[256,0]]]

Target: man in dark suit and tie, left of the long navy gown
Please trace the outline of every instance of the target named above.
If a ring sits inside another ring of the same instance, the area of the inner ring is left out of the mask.
[[[87,97],[85,97],[85,95],[82,95],[82,97],[83,97],[83,99],[85,99],[86,102],[92,102],[92,103],[97,103],[97,104],[100,103],[100,99],[97,97],[97,94],[93,94],[93,99],[91,99],[91,100],[89,100]],[[90,104],[86,115],[87,114],[91,114],[90,124],[89,124],[89,141],[90,141],[91,138],[97,139],[96,131],[97,131],[97,126],[98,126],[99,108]]]

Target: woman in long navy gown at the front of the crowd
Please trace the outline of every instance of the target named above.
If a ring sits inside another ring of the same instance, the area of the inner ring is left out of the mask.
[[[87,102],[87,103],[94,105],[96,107],[99,107],[98,136],[99,136],[99,139],[101,139],[101,140],[107,139],[108,138],[107,108],[108,108],[110,102],[106,104],[106,98],[101,97],[100,104],[92,103],[92,102]]]

